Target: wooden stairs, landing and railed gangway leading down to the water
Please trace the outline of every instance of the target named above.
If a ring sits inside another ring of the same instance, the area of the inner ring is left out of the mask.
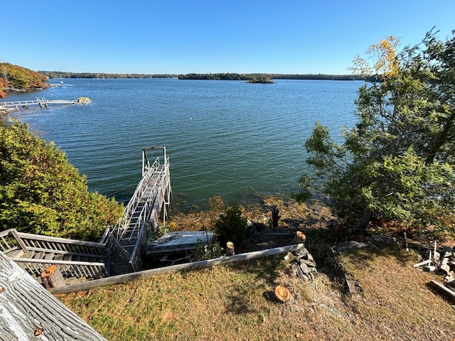
[[[147,151],[162,151],[153,163]],[[65,278],[100,278],[141,270],[149,233],[166,223],[171,199],[171,177],[166,147],[142,150],[142,178],[122,217],[107,227],[100,242],[27,234],[9,229],[0,232],[0,251],[29,274],[39,277],[57,264]],[[160,221],[160,218],[162,219]]]

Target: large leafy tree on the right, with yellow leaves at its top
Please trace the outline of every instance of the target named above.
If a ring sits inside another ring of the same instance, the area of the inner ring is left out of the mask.
[[[356,58],[365,77],[353,129],[336,144],[316,122],[306,141],[307,162],[323,180],[338,215],[395,220],[423,232],[454,232],[455,31],[429,32],[396,53],[397,39],[373,45],[373,67]]]

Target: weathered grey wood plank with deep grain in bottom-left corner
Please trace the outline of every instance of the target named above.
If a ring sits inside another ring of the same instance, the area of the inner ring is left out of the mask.
[[[0,288],[0,340],[106,341],[2,252]]]

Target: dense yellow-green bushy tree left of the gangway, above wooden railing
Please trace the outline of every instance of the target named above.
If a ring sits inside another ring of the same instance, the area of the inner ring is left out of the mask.
[[[26,124],[0,127],[0,229],[95,241],[122,209]]]

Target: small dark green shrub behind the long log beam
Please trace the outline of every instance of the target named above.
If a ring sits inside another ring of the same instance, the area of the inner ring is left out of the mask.
[[[236,202],[230,202],[225,213],[215,222],[215,234],[221,245],[227,242],[234,244],[242,242],[247,233],[247,219],[243,217],[242,211]]]

